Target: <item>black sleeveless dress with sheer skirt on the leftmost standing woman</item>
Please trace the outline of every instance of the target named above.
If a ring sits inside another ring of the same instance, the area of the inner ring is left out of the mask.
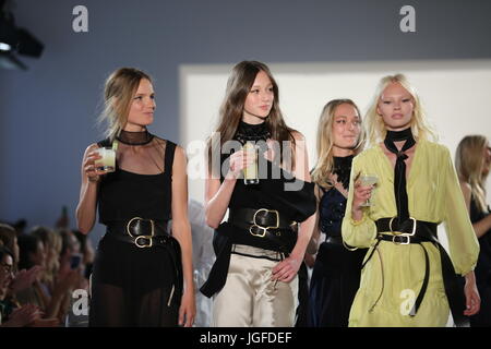
[[[152,136],[153,137],[153,136]],[[107,146],[108,141],[99,142]],[[139,174],[118,167],[101,180],[99,221],[108,227],[133,217],[166,225],[171,218],[171,169],[176,144],[153,139],[163,146],[164,171]],[[182,280],[177,279],[176,256],[168,249],[137,248],[113,238],[100,240],[92,275],[89,326],[177,326]]]

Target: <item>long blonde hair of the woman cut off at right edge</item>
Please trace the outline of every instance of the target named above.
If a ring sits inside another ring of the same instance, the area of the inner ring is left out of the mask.
[[[455,152],[455,169],[458,178],[470,185],[470,192],[479,210],[486,210],[486,180],[483,152],[488,139],[480,134],[467,135],[458,143]]]

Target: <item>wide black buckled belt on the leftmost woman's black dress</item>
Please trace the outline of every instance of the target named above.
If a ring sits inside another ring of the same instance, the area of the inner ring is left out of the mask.
[[[129,220],[111,221],[107,228],[111,239],[132,243],[141,249],[167,245],[172,243],[171,239],[173,240],[167,232],[166,220],[134,217]]]

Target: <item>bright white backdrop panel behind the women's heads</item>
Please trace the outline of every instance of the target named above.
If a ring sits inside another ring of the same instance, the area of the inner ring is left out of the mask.
[[[311,167],[316,160],[316,127],[324,105],[334,98],[351,98],[364,113],[379,80],[397,72],[416,86],[440,142],[451,154],[467,134],[491,137],[491,60],[268,65],[279,85],[287,124],[306,135]],[[197,148],[216,128],[231,68],[180,67],[180,140],[188,147],[190,197],[200,202],[204,200],[204,155]]]

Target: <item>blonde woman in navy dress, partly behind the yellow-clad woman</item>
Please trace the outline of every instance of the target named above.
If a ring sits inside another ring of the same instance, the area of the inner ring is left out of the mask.
[[[367,250],[350,249],[343,243],[342,222],[351,161],[363,146],[363,136],[361,117],[352,100],[335,99],[324,107],[318,131],[319,160],[312,173],[318,184],[319,221],[308,250],[316,252],[310,284],[309,326],[348,326]],[[325,240],[316,251],[320,232]]]

